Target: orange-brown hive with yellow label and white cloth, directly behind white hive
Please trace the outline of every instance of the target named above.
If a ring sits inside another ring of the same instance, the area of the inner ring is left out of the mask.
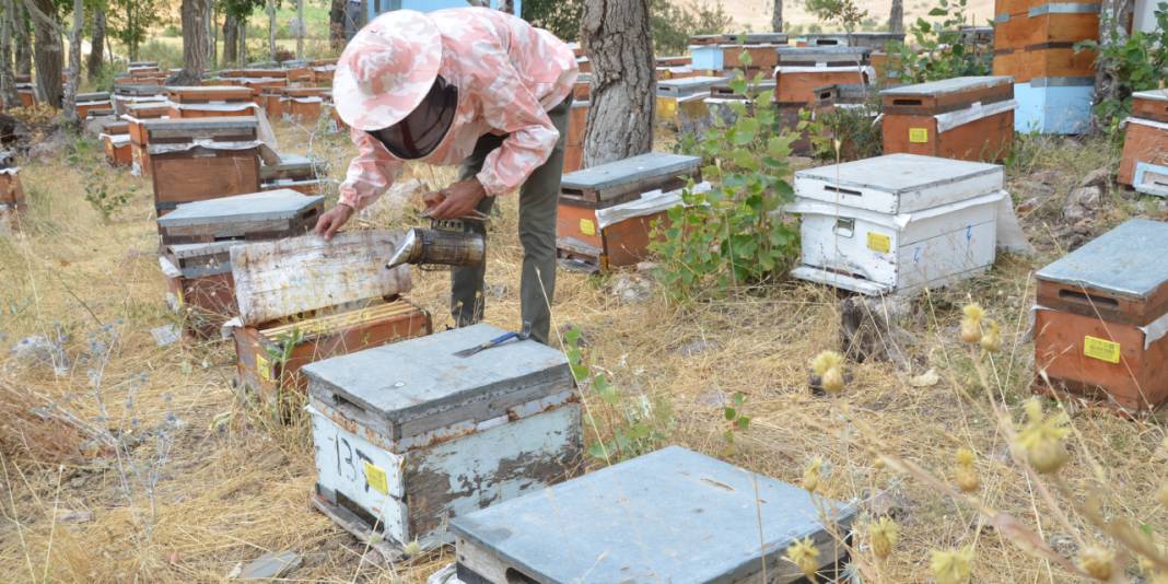
[[[881,91],[884,153],[1002,160],[1014,144],[1009,77],[954,77]]]

